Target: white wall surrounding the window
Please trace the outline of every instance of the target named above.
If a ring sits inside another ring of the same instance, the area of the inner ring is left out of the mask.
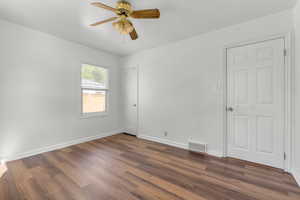
[[[0,156],[119,131],[119,57],[0,21]],[[80,119],[80,65],[110,69],[110,113]]]

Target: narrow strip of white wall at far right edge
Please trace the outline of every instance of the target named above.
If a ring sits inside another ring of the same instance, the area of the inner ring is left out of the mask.
[[[295,16],[295,130],[294,130],[294,173],[300,184],[300,3],[294,10]]]

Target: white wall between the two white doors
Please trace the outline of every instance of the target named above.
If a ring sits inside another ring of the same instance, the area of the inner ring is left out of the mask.
[[[124,58],[140,67],[139,134],[182,144],[191,137],[222,154],[224,46],[292,30],[285,11]]]

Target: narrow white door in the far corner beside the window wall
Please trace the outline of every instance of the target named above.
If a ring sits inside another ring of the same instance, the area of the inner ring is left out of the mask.
[[[125,132],[137,135],[138,117],[138,71],[136,67],[124,68],[123,70],[123,99]]]

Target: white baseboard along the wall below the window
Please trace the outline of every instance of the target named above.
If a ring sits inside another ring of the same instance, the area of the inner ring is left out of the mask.
[[[122,133],[122,132],[123,132],[123,129],[122,130],[110,131],[110,132],[102,133],[102,134],[95,135],[95,136],[78,138],[78,139],[74,139],[74,140],[71,140],[71,141],[68,141],[68,142],[63,142],[63,143],[60,143],[60,144],[50,145],[50,146],[42,147],[42,148],[39,148],[39,149],[34,149],[34,150],[23,152],[23,153],[18,153],[16,155],[9,156],[9,157],[4,157],[3,156],[2,158],[5,159],[6,161],[18,160],[18,159],[34,156],[34,155],[37,155],[37,154],[46,153],[46,152],[49,152],[49,151],[54,151],[54,150],[57,150],[57,149],[62,149],[62,148],[65,148],[65,147],[73,146],[73,145],[76,145],[76,144],[81,144],[81,143],[84,143],[84,142],[89,142],[89,141],[92,141],[92,140],[97,140],[97,139],[101,139],[101,138],[104,138],[104,137],[116,135],[116,134],[119,134],[119,133]]]

